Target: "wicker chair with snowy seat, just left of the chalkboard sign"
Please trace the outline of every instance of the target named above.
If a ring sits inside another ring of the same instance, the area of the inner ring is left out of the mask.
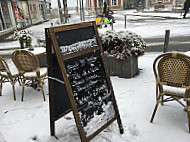
[[[24,98],[25,85],[39,83],[45,101],[43,81],[47,77],[47,68],[40,68],[36,55],[26,50],[15,50],[12,53],[12,60],[19,71],[19,76],[22,82],[21,100],[23,101]]]

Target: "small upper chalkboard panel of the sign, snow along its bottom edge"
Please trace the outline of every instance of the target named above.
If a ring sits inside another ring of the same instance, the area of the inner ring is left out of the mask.
[[[62,55],[97,46],[97,37],[92,26],[56,32],[55,36]]]

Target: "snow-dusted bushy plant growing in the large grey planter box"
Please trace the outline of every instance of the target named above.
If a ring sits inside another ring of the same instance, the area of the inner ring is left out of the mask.
[[[142,37],[130,31],[106,31],[100,37],[105,53],[120,60],[126,60],[129,56],[141,56],[146,48]]]

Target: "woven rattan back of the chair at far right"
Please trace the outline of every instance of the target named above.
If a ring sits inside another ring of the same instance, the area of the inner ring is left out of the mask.
[[[160,59],[157,65],[160,82],[174,87],[190,85],[190,58],[188,56],[167,53],[159,56],[158,59]],[[155,68],[154,66],[154,71],[156,71]]]

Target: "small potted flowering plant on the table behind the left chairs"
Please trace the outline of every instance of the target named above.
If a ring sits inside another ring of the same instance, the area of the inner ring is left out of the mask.
[[[30,30],[16,30],[13,38],[19,40],[21,49],[32,47],[32,32]]]

